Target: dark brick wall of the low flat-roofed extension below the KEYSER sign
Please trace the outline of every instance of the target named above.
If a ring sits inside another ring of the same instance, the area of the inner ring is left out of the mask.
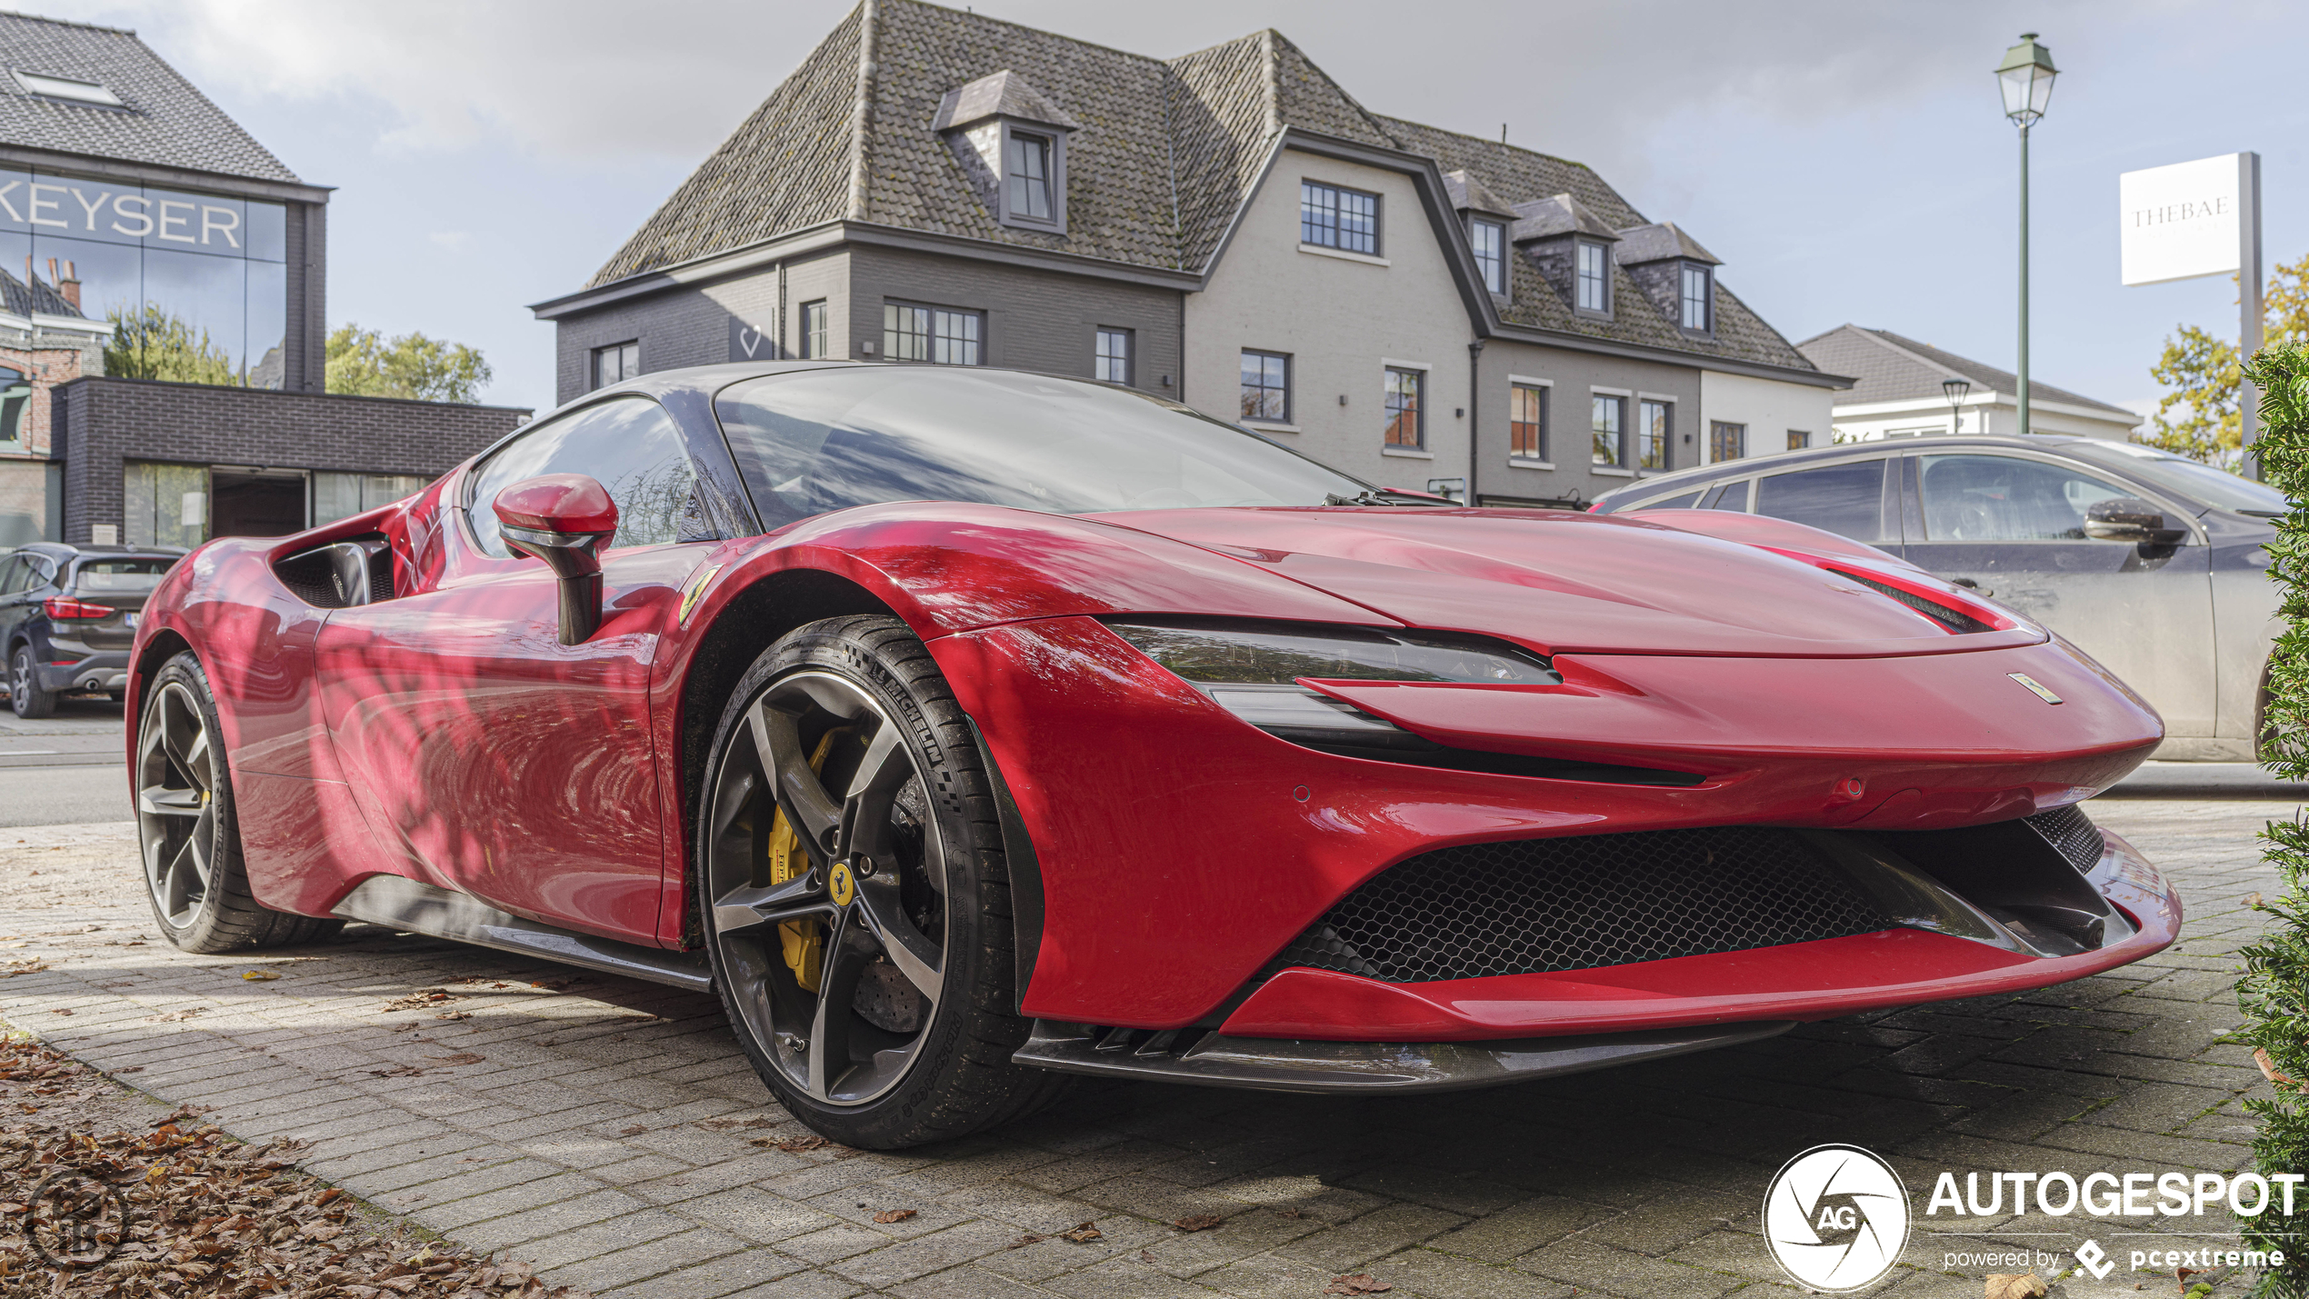
[[[92,524],[120,524],[129,459],[436,478],[526,415],[515,406],[76,378],[55,390],[65,540],[85,542]]]

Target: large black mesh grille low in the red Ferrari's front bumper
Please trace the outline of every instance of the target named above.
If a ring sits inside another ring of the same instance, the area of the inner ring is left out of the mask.
[[[1275,969],[1422,983],[1593,969],[1889,928],[1789,831],[1720,826],[1469,844],[1348,893]]]

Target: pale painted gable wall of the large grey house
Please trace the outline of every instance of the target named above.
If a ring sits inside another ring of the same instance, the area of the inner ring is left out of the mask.
[[[1378,194],[1381,256],[1300,249],[1300,180]],[[1367,482],[1425,489],[1429,478],[1466,478],[1466,420],[1452,411],[1466,408],[1471,337],[1411,178],[1284,150],[1210,288],[1187,295],[1185,399],[1240,420],[1242,348],[1288,353],[1291,425],[1275,438]],[[1388,362],[1429,367],[1427,455],[1383,452]]]

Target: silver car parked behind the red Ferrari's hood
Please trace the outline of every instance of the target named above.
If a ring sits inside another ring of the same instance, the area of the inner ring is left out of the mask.
[[[1709,464],[1596,501],[1750,510],[1891,551],[2053,628],[2166,722],[2161,759],[2254,761],[2286,498],[2134,443],[1916,436]]]

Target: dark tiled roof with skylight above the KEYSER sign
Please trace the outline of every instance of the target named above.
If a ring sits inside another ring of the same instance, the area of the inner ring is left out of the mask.
[[[0,141],[300,185],[136,32],[0,12],[0,69],[102,83],[120,108],[25,95],[0,74]]]

